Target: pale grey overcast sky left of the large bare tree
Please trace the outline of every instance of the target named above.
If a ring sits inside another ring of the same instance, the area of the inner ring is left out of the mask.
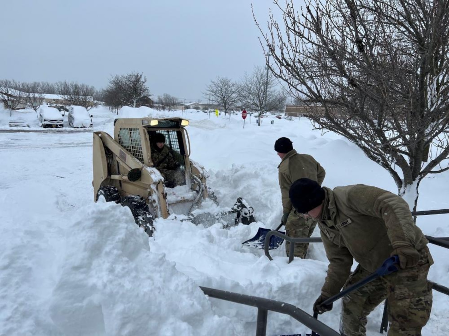
[[[101,89],[137,71],[155,96],[204,101],[211,79],[264,65],[251,2],[266,26],[272,0],[1,1],[0,79]]]

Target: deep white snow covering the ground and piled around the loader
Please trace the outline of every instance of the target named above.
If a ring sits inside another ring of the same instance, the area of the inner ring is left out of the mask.
[[[321,244],[310,244],[308,259],[290,264],[284,246],[272,250],[269,261],[262,250],[241,245],[259,227],[276,228],[281,219],[273,149],[279,137],[313,155],[326,169],[324,185],[330,188],[364,183],[396,193],[392,177],[357,146],[331,132],[321,135],[306,118],[269,116],[256,126],[248,116],[243,129],[239,115],[139,111],[190,120],[191,158],[208,170],[220,206],[243,197],[258,222],[204,228],[172,214],[157,219],[148,238],[127,208],[93,202],[92,129],[46,132],[32,110],[13,111],[12,117],[0,110],[0,335],[255,334],[256,308],[209,298],[198,286],[287,302],[312,314],[327,269]],[[117,115],[105,107],[89,112],[93,131],[113,134]],[[120,116],[133,113],[124,109]],[[17,130],[31,132],[1,132],[16,130],[8,122],[18,117],[31,127]],[[418,210],[448,208],[448,180],[449,172],[424,179]],[[427,235],[449,236],[448,215],[421,216],[417,224]],[[318,236],[316,229],[313,237]],[[435,259],[429,279],[449,286],[449,251],[429,247]],[[423,335],[449,333],[448,299],[434,292]],[[338,330],[340,308],[335,302],[320,321]],[[368,336],[379,335],[382,309],[370,314]],[[306,332],[287,315],[268,314],[267,335]]]

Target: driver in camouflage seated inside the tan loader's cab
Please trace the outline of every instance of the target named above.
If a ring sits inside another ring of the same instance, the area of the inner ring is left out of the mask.
[[[153,167],[158,169],[164,177],[164,185],[167,188],[174,188],[176,185],[185,184],[185,177],[180,169],[180,163],[175,160],[168,147],[165,146],[165,136],[162,133],[155,133],[153,142],[154,146],[151,151]]]

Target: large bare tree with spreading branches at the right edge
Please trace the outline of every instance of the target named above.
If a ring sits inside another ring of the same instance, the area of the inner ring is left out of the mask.
[[[413,210],[418,186],[449,169],[449,0],[293,1],[270,15],[272,72],[385,168]]]

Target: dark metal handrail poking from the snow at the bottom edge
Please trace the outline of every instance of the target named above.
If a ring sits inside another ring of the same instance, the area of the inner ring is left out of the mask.
[[[265,336],[267,330],[268,310],[281,314],[290,315],[295,320],[304,324],[306,327],[317,332],[320,336],[341,336],[334,329],[326,324],[314,319],[312,315],[307,314],[304,310],[299,309],[289,303],[265,299],[251,295],[228,292],[225,290],[208,288],[200,286],[204,294],[216,299],[240,303],[246,306],[257,307],[257,327],[256,336]]]

